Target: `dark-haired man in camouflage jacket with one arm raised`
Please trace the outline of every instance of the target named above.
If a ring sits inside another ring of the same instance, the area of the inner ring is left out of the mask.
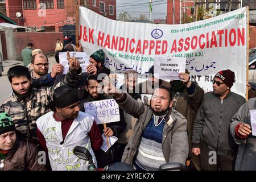
[[[35,89],[31,86],[28,68],[16,65],[7,73],[14,95],[0,106],[13,119],[16,129],[28,138],[36,140],[36,119],[48,113],[53,91],[64,84],[75,87],[81,76],[81,67],[75,57],[69,57],[69,71],[63,81],[49,88]]]

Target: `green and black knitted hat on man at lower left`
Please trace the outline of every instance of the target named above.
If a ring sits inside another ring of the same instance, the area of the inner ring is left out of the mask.
[[[0,135],[9,131],[15,131],[13,119],[6,112],[0,112]]]

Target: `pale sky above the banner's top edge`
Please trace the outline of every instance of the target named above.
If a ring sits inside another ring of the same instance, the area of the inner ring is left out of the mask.
[[[116,0],[117,1],[117,18],[119,13],[127,11],[131,18],[138,18],[140,14],[144,14],[149,19],[150,0]],[[167,0],[152,0],[152,18],[166,19]]]

